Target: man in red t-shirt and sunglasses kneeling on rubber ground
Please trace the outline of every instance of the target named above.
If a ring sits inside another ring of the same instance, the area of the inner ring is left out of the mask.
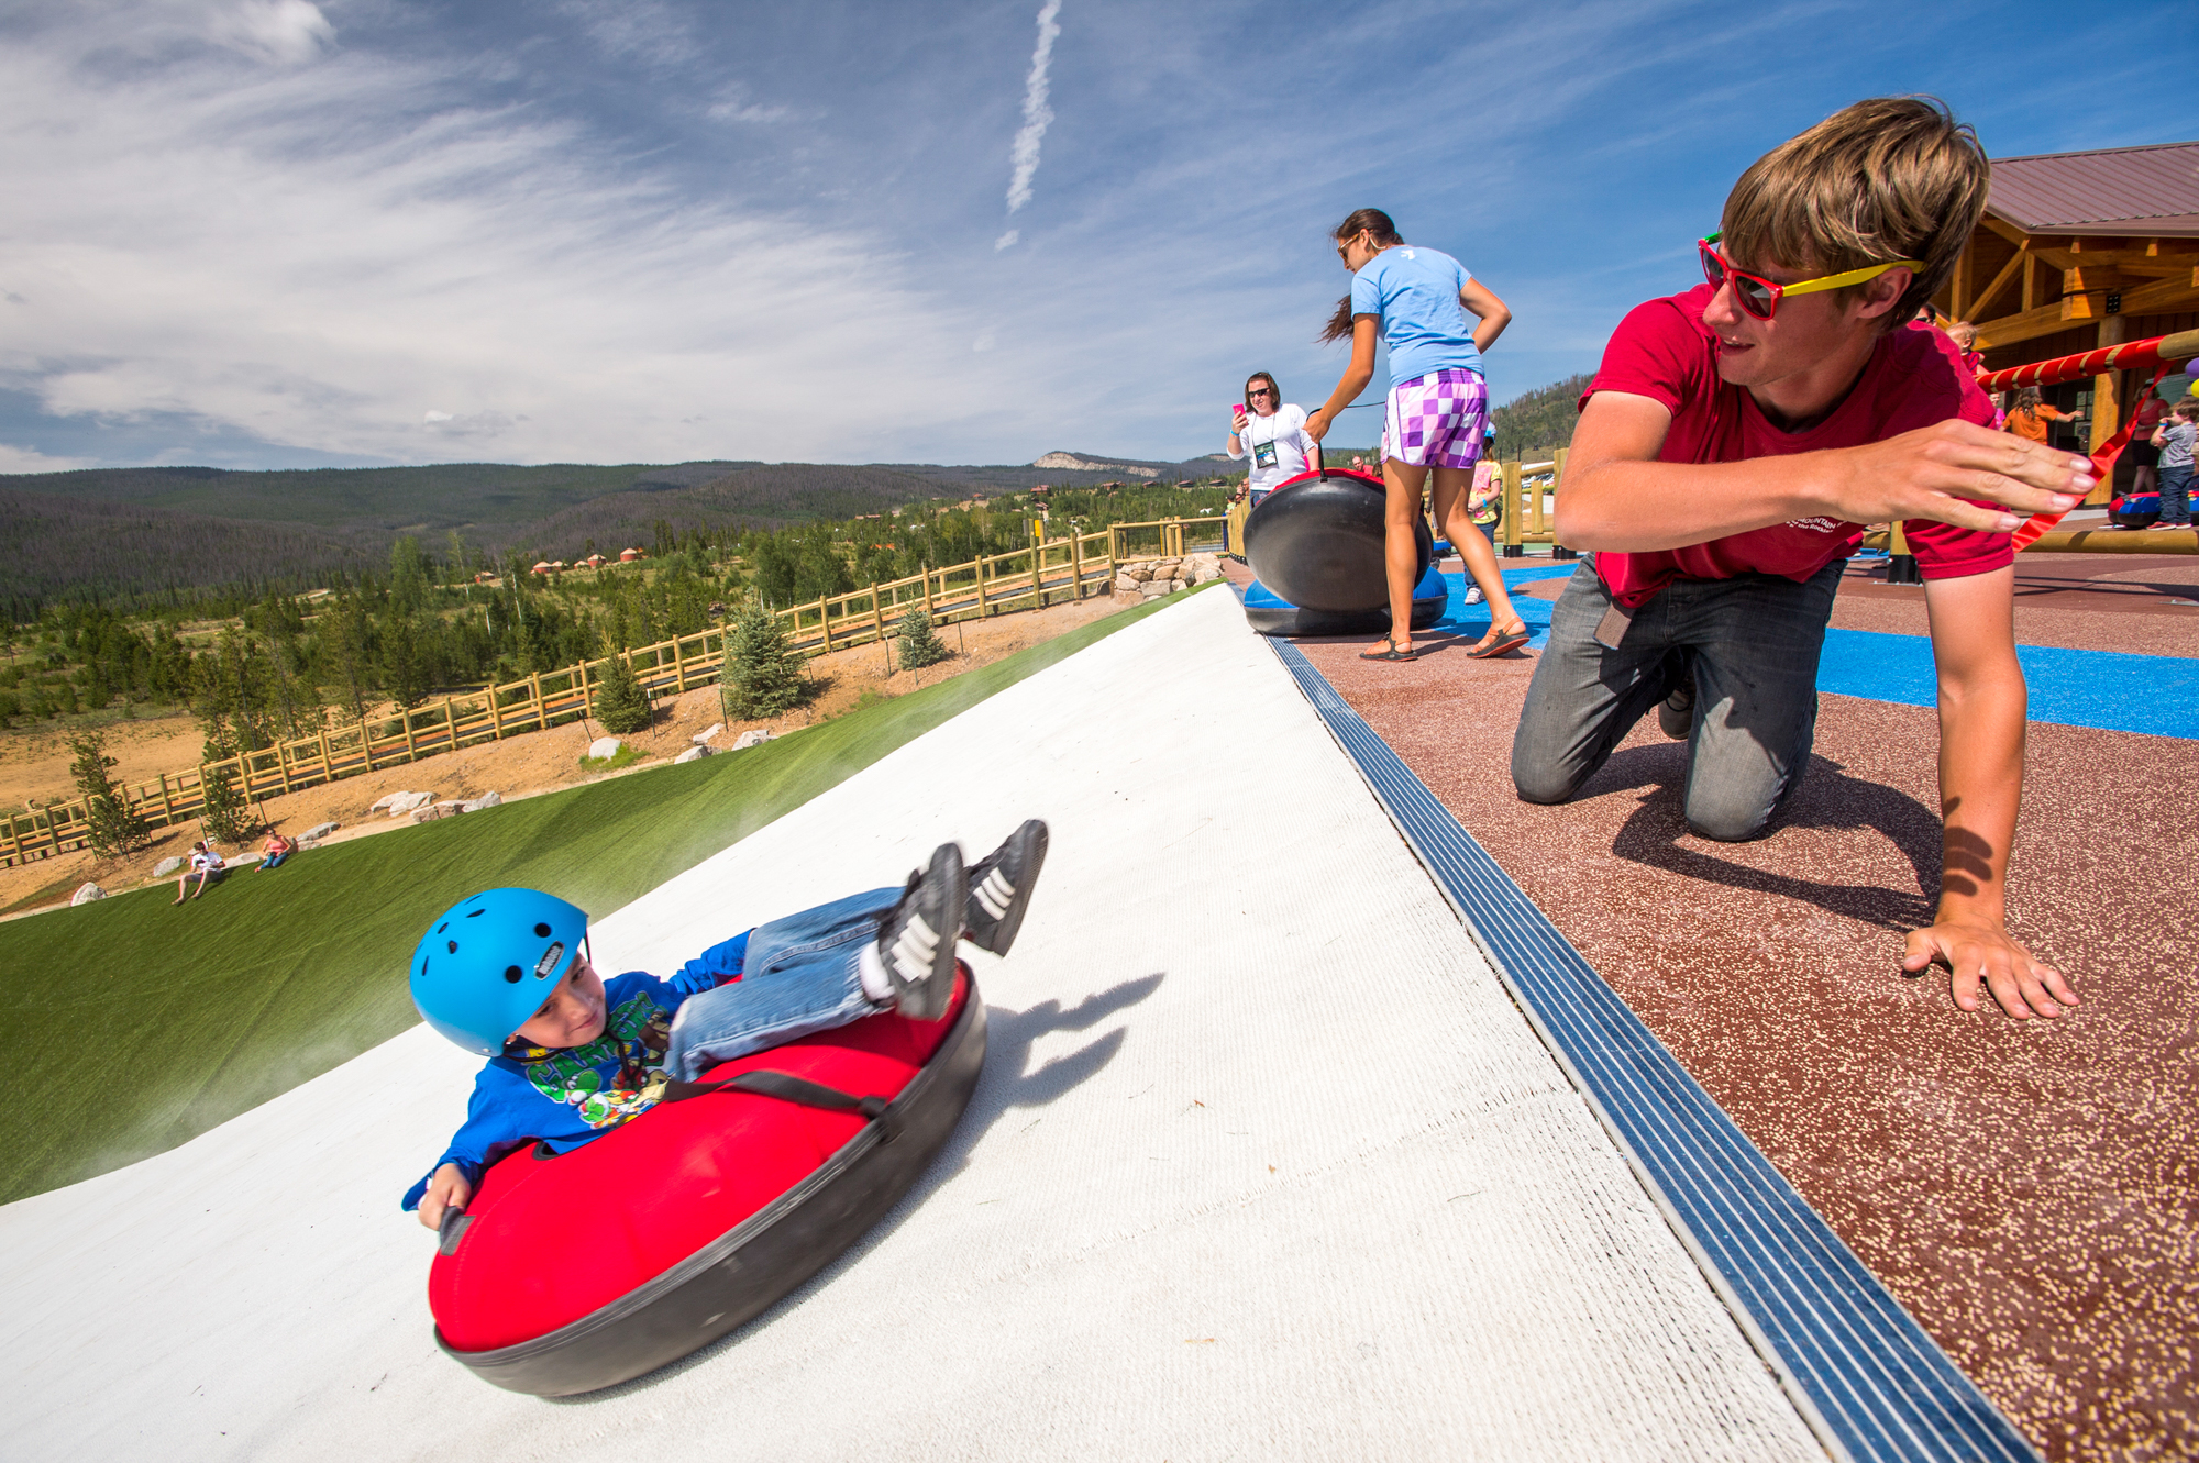
[[[1687,824],[1770,833],[1810,764],[1816,663],[1863,525],[1909,523],[1940,672],[1940,905],[1902,971],[2012,1017],[2076,1004],[2005,927],[2023,793],[2010,534],[2093,485],[2085,457],[1994,433],[1937,330],[1907,330],[1986,206],[1977,136],[1918,97],[1858,101],[1759,158],[1700,242],[1706,283],[1638,305],[1581,395],[1557,536],[1566,584],[1513,736],[1555,804],[1651,707],[1689,742]],[[1660,705],[1662,703],[1662,705]]]

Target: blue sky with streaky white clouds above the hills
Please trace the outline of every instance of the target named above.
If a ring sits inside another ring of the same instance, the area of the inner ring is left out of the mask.
[[[1513,305],[1502,402],[1858,97],[2199,136],[2181,11],[15,4],[0,472],[1190,457],[1253,369],[1326,398],[1363,204]]]

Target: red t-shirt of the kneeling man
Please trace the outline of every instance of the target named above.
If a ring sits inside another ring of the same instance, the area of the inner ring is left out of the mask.
[[[1711,286],[1636,305],[1610,345],[1603,367],[1581,393],[1627,391],[1662,402],[1671,428],[1658,461],[1746,461],[1788,453],[1885,442],[1933,422],[1962,417],[1992,426],[1992,400],[1962,367],[1955,343],[1937,330],[1891,330],[1878,336],[1871,362],[1830,417],[1799,433],[1779,431],[1755,398],[1717,378],[1717,336],[1702,323]],[[1959,580],[2014,562],[2008,534],[1983,534],[1915,518],[1904,527],[1909,551],[1926,580]],[[1673,580],[1731,580],[1777,573],[1801,582],[1863,547],[1863,525],[1841,518],[1797,518],[1728,534],[1684,549],[1596,554],[1596,573],[1621,604],[1647,604]]]

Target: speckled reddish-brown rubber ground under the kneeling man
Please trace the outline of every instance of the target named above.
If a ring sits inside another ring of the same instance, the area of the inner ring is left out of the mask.
[[[2016,569],[2019,639],[2199,652],[2168,604],[2199,560]],[[1865,573],[1834,624],[1922,633]],[[1937,896],[1931,710],[1825,696],[1788,824],[1711,844],[1654,716],[1577,802],[1522,804],[1535,652],[1445,641],[1300,648],[2049,1459],[2199,1454],[2199,742],[2030,729],[2010,923],[2085,1004],[2019,1024],[1898,973]]]

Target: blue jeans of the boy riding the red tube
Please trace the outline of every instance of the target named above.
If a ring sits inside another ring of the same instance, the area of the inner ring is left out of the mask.
[[[877,1015],[858,960],[899,898],[871,890],[756,925],[741,980],[679,1004],[664,1068],[695,1081],[721,1061]]]

